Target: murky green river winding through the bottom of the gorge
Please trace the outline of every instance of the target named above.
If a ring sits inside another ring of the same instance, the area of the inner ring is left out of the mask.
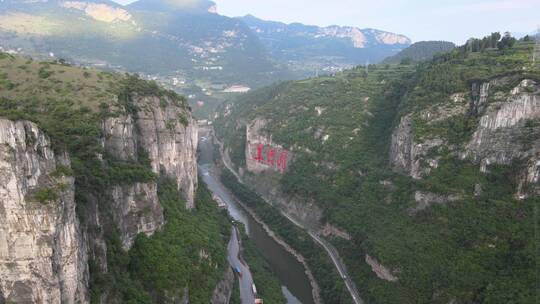
[[[259,252],[269,262],[270,267],[281,283],[281,290],[288,304],[313,304],[313,295],[309,279],[304,272],[304,267],[289,252],[272,239],[247,212],[229,195],[221,182],[214,174],[213,153],[211,141],[201,136],[199,140],[199,173],[212,193],[218,195],[227,204],[231,217],[241,222],[246,227],[248,237],[259,249]],[[231,245],[229,245],[231,247]],[[234,255],[234,250],[229,250],[229,255]],[[236,257],[229,256],[229,260],[236,261]],[[237,262],[234,262],[237,263]],[[237,265],[233,265],[237,266]],[[242,268],[244,269],[244,268]],[[251,278],[251,275],[250,275]],[[245,279],[240,282],[246,286]],[[255,282],[257,285],[257,282]],[[246,287],[244,287],[246,288]],[[247,293],[244,290],[242,293]],[[244,300],[247,296],[242,296]],[[264,300],[264,299],[263,299]],[[251,303],[244,303],[251,304]]]

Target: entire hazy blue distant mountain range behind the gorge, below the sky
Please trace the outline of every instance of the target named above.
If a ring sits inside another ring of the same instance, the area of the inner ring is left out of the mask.
[[[227,88],[375,63],[410,40],[373,29],[219,15],[208,0],[4,0],[0,51],[138,73],[208,116]]]

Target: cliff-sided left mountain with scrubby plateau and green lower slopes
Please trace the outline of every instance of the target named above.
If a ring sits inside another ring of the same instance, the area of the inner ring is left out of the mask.
[[[0,71],[0,303],[230,295],[231,226],[198,183],[185,98],[5,53]]]

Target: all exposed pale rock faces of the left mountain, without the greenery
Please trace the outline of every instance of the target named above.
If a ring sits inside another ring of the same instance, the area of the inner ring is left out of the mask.
[[[193,208],[197,127],[186,109],[162,99],[141,97],[135,113],[105,119],[103,145],[120,160],[147,157]],[[86,303],[88,258],[107,272],[99,198],[86,198],[81,228],[69,167],[36,124],[0,119],[0,303]],[[124,249],[164,225],[156,182],[113,186],[107,195]]]

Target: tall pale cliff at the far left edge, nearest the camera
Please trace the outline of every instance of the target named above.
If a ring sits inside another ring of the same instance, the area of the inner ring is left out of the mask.
[[[69,166],[34,123],[0,119],[0,302],[88,301]]]

